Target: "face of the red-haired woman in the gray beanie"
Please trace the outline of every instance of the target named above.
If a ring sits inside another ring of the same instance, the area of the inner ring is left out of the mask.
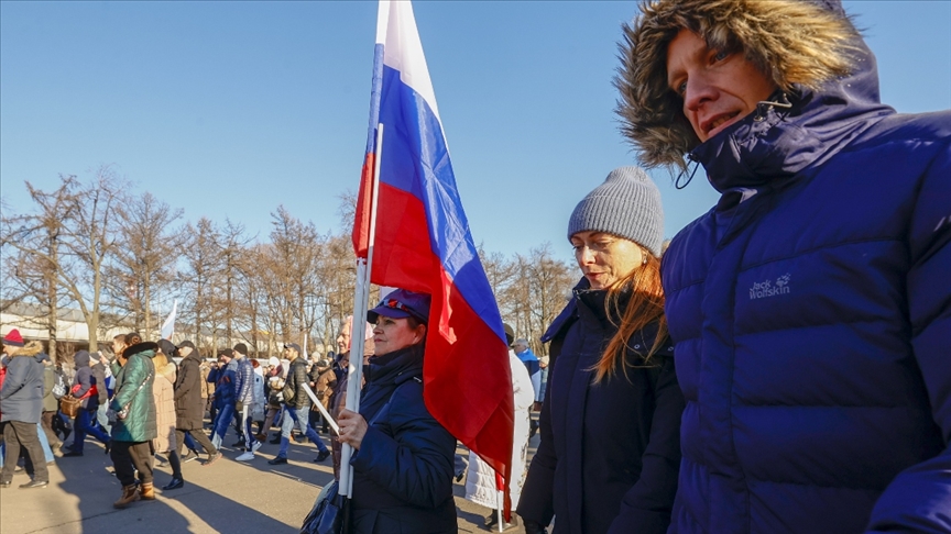
[[[604,232],[578,232],[571,236],[571,246],[591,289],[606,289],[644,265],[640,245]]]

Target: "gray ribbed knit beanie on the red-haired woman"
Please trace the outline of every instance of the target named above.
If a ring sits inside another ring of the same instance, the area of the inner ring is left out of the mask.
[[[568,238],[578,232],[605,232],[631,240],[660,257],[664,209],[660,191],[640,167],[621,167],[588,193],[568,221]]]

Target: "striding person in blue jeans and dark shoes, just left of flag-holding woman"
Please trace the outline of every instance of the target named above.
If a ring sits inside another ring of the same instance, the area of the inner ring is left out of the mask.
[[[287,379],[282,390],[284,415],[281,420],[281,450],[274,459],[267,463],[272,466],[287,463],[287,448],[291,445],[291,433],[295,426],[317,445],[317,449],[320,452],[317,460],[324,461],[330,456],[330,452],[327,450],[327,446],[324,445],[317,432],[307,424],[307,413],[310,411],[310,397],[304,390],[308,381],[307,360],[300,357],[300,346],[296,343],[284,345],[284,357],[291,361],[291,365],[287,367]]]

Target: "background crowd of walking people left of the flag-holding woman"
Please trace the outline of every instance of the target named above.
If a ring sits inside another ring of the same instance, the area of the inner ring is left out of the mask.
[[[17,329],[6,334],[2,347],[0,488],[12,485],[20,464],[30,477],[20,488],[45,487],[46,466],[55,461],[55,453],[62,450],[63,458],[84,456],[87,436],[100,442],[112,459],[122,483],[114,502],[120,509],[155,498],[156,458],[172,468],[172,480],[162,490],[183,488],[182,465],[199,459],[200,452],[206,455],[204,466],[218,461],[231,426],[239,436],[234,446],[244,449],[234,458],[239,461],[254,459],[274,423],[281,432],[272,443],[281,443],[281,449],[270,464],[287,463],[295,427],[317,444],[315,461],[330,456],[317,434],[321,426],[328,432],[327,421],[310,410],[305,388],[329,407],[346,364],[305,360],[294,343],[284,347],[284,360],[272,357],[263,366],[248,358],[242,343],[220,351],[212,360],[203,358],[190,341],[177,346],[168,340],[143,342],[134,332],[117,335],[111,355],[78,351],[64,358],[72,365],[54,365],[39,341],[24,341]],[[271,408],[266,412],[265,404]]]

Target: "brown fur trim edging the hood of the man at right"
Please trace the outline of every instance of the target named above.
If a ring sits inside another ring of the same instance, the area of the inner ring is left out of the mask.
[[[711,48],[744,51],[779,88],[818,89],[846,76],[850,43],[859,36],[839,10],[806,0],[658,0],[624,24],[621,131],[647,167],[686,168],[684,156],[700,144],[684,116],[682,100],[667,86],[667,46],[681,29],[701,35]]]

